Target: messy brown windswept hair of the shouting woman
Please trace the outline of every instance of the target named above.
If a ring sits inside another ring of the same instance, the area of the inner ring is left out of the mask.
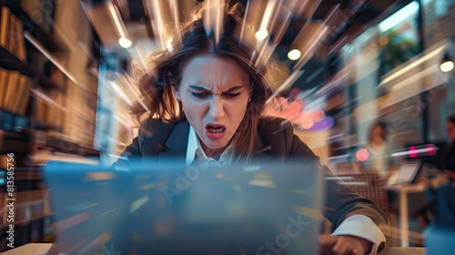
[[[203,5],[198,5],[194,15],[196,19],[182,26],[181,39],[173,40],[172,49],[163,49],[149,56],[152,66],[147,74],[139,79],[139,87],[144,98],[145,109],[140,104],[131,107],[136,118],[160,118],[163,121],[181,121],[185,119],[181,102],[177,102],[173,87],[179,86],[187,63],[195,56],[210,54],[230,57],[248,72],[249,85],[252,89],[251,101],[243,120],[231,140],[238,162],[247,162],[254,153],[254,141],[258,132],[258,121],[270,95],[266,78],[268,63],[255,63],[255,48],[247,40],[239,40],[242,28],[239,4],[226,5],[224,26],[217,43],[213,33],[207,33],[203,21]],[[148,67],[150,67],[148,66]]]

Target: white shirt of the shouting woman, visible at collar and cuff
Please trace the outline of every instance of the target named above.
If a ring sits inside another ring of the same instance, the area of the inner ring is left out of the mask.
[[[187,147],[187,158],[186,165],[189,166],[197,160],[197,164],[201,167],[207,168],[208,166],[223,167],[226,166],[232,160],[233,157],[232,146],[229,146],[221,153],[219,160],[215,158],[208,158],[204,149],[202,149],[199,139],[197,138],[196,131],[191,125],[189,126],[188,134],[188,147]],[[345,219],[337,228],[333,231],[332,236],[339,235],[351,235],[357,236],[369,240],[373,243],[371,252],[369,254],[376,254],[379,244],[386,241],[386,238],[378,226],[364,215],[353,215]]]

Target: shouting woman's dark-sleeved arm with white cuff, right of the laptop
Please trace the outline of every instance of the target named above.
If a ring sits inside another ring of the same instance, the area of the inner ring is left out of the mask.
[[[326,179],[324,184],[326,199],[321,212],[332,223],[333,235],[360,237],[361,245],[365,245],[368,243],[366,240],[369,240],[375,244],[373,249],[379,246],[380,250],[386,244],[389,245],[390,240],[383,240],[384,236],[379,230],[379,227],[389,226],[389,219],[385,213],[371,200],[359,196],[341,179],[337,179],[329,168],[321,166],[319,158],[293,134],[292,128],[286,128],[285,140],[287,141],[287,159],[312,159],[315,169],[324,171],[326,177],[332,177]],[[389,237],[389,235],[386,236]],[[353,240],[359,239],[354,238]]]

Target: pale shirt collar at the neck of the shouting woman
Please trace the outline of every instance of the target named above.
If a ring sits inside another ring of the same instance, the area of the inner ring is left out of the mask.
[[[232,146],[229,146],[221,153],[218,161],[214,158],[208,158],[206,152],[200,145],[195,129],[189,125],[187,159],[185,160],[187,166],[191,165],[196,158],[198,161],[217,162],[217,165],[225,166],[227,162],[231,160],[232,155],[233,148]]]

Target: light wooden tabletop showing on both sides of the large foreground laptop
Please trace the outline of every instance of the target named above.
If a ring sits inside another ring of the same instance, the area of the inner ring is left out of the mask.
[[[44,255],[52,243],[29,243],[13,250],[2,252],[2,255]],[[379,255],[424,255],[425,248],[416,247],[389,247],[378,253]]]

